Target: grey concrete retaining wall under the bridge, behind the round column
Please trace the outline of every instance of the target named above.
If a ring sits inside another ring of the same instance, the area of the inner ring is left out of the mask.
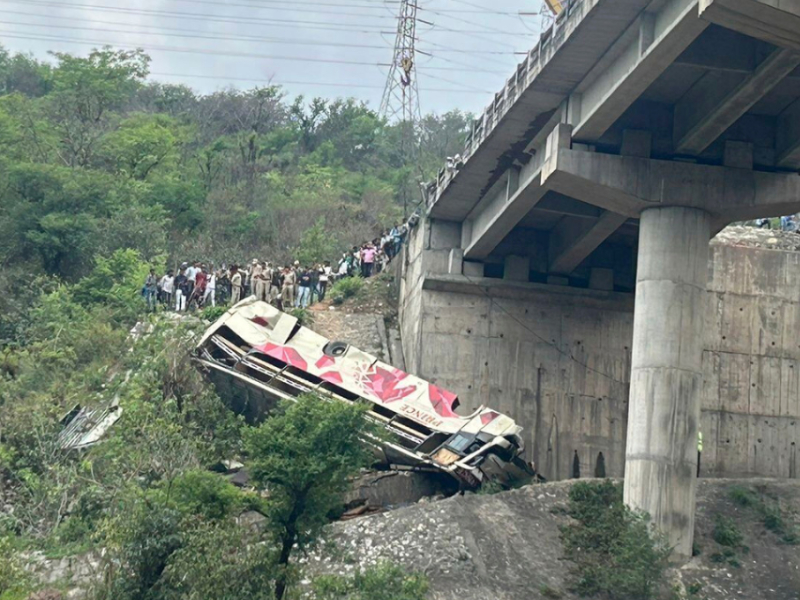
[[[456,236],[406,249],[408,370],[513,416],[550,479],[622,476],[633,296],[448,274]],[[708,298],[702,472],[796,478],[800,253],[712,245]]]

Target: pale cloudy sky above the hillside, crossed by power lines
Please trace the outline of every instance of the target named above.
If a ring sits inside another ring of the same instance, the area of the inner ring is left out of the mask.
[[[480,112],[539,37],[541,0],[416,2],[423,113]],[[274,83],[377,110],[399,9],[399,0],[0,0],[0,44],[39,59],[138,47],[155,81],[201,93]]]

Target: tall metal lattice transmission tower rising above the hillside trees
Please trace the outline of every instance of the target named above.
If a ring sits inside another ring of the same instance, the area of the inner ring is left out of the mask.
[[[401,0],[397,18],[394,57],[381,100],[381,116],[414,126],[422,120],[417,87],[417,5],[415,0]]]

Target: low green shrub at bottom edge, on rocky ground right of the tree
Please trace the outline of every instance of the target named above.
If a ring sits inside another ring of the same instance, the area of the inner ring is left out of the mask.
[[[318,577],[313,590],[315,600],[425,600],[428,580],[422,574],[383,563],[359,570],[352,577]]]

